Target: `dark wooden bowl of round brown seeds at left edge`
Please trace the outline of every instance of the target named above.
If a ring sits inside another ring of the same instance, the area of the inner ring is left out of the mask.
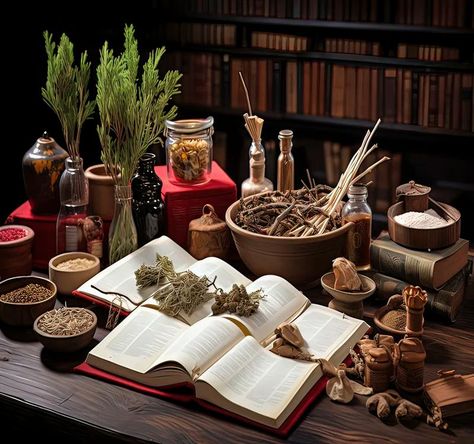
[[[54,282],[39,276],[17,276],[0,282],[0,321],[31,326],[56,302]]]

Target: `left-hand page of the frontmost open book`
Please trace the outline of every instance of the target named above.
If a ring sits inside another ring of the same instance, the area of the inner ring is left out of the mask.
[[[104,368],[98,361],[107,361],[146,373],[187,329],[184,322],[153,308],[139,307],[89,352],[86,361],[98,368]]]

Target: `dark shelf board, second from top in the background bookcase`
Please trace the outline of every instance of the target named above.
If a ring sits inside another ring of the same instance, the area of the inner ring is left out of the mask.
[[[168,45],[168,50],[181,52],[210,52],[217,54],[232,54],[239,57],[262,57],[284,60],[328,60],[340,64],[350,64],[358,66],[394,66],[402,68],[413,68],[414,70],[424,72],[450,72],[462,71],[473,72],[474,68],[470,63],[453,62],[428,62],[423,60],[399,59],[393,57],[379,57],[357,54],[342,54],[330,52],[282,52],[271,51],[259,48],[235,48],[220,46],[202,46],[202,45]]]

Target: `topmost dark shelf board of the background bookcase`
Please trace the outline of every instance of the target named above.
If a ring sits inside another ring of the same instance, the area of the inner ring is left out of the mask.
[[[180,16],[182,21],[197,21],[205,23],[229,23],[255,26],[273,26],[286,28],[304,29],[329,29],[337,31],[364,31],[380,32],[390,34],[423,34],[438,35],[443,37],[468,38],[474,37],[474,29],[469,28],[447,28],[436,26],[399,25],[393,23],[371,23],[371,22],[339,22],[332,20],[303,20],[275,17],[243,17],[235,15],[207,15],[189,14]]]

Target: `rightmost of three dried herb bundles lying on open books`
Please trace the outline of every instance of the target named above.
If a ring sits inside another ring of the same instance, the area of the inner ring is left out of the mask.
[[[243,285],[234,284],[228,293],[222,290],[215,293],[216,302],[211,307],[212,314],[229,312],[248,317],[258,310],[260,299],[263,297],[262,289],[249,294]]]

